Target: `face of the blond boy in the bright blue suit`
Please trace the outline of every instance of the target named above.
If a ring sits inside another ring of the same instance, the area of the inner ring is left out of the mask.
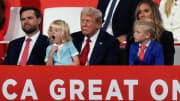
[[[148,32],[144,31],[143,28],[136,26],[134,28],[134,40],[135,42],[144,42],[147,39],[150,39],[150,35]]]

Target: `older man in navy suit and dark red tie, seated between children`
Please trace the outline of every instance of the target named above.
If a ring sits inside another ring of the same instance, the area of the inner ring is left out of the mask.
[[[81,65],[120,64],[118,40],[100,29],[101,11],[92,7],[83,8],[80,24],[81,31],[73,33],[72,38],[80,53]]]

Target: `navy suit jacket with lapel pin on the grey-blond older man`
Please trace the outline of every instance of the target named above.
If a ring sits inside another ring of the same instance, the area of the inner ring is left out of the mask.
[[[84,35],[82,32],[72,34],[73,43],[79,53],[81,52]],[[119,42],[116,38],[100,30],[92,51],[89,65],[119,65]]]

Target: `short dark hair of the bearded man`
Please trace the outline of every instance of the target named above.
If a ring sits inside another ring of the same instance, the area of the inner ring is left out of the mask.
[[[20,10],[20,17],[21,17],[21,14],[24,12],[24,11],[27,11],[27,10],[33,10],[35,12],[35,15],[36,15],[36,18],[40,18],[41,17],[41,12],[39,9],[35,8],[35,7],[32,7],[32,6],[26,6],[26,7],[22,7],[21,10]]]

